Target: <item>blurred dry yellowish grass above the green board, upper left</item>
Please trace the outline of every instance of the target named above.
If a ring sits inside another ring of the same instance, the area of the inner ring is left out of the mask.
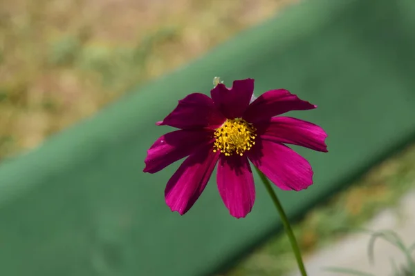
[[[0,160],[293,0],[0,0]]]

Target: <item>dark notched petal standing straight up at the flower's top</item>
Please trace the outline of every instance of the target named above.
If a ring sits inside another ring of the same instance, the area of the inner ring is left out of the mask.
[[[232,88],[228,89],[219,83],[210,91],[216,107],[228,119],[240,118],[249,106],[254,92],[254,79],[234,81]]]

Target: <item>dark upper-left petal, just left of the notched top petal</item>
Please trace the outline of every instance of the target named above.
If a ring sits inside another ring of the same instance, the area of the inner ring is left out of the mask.
[[[172,126],[174,128],[218,128],[226,120],[219,112],[210,97],[193,93],[178,101],[178,106],[158,121],[158,126]]]

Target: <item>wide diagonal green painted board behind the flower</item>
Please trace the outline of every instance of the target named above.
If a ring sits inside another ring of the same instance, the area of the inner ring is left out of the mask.
[[[144,174],[157,127],[190,92],[253,77],[319,106],[329,153],[302,150],[306,191],[280,192],[304,212],[415,132],[415,2],[307,1],[171,75],[138,88],[27,155],[0,166],[1,275],[205,275],[279,227],[261,184],[246,219],[228,215],[214,181],[181,217],[164,202],[178,164]],[[297,149],[297,148],[295,148]]]

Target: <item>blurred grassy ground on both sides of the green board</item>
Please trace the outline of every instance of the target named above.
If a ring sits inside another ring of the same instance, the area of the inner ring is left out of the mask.
[[[0,0],[0,160],[35,148],[129,88],[296,4]],[[394,206],[414,179],[415,147],[409,146],[311,210],[295,226],[306,255],[342,236],[344,225],[361,226]],[[283,275],[295,267],[291,254],[286,237],[277,235],[221,275]]]

